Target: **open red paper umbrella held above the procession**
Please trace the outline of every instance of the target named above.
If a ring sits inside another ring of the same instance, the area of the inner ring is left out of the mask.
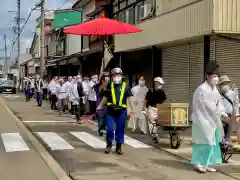
[[[105,18],[101,15],[99,19],[87,21],[64,30],[66,34],[76,35],[114,35],[114,34],[129,34],[141,32],[142,29],[130,24]]]

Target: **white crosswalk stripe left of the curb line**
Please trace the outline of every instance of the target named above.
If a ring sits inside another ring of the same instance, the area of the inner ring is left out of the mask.
[[[2,133],[1,137],[6,152],[29,151],[27,144],[19,133]]]

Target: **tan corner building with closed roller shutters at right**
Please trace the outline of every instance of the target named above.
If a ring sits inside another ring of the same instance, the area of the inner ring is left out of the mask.
[[[139,73],[145,72],[150,81],[161,75],[168,101],[191,102],[210,60],[216,60],[220,73],[229,75],[240,86],[236,68],[240,52],[236,38],[240,33],[238,1],[133,0],[123,10],[119,9],[120,2],[117,4],[115,17],[143,31],[116,35],[115,53],[121,54],[123,67],[131,59],[143,64]]]

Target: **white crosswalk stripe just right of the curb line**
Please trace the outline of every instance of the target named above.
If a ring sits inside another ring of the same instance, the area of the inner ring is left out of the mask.
[[[74,149],[67,141],[54,132],[37,132],[51,150]]]

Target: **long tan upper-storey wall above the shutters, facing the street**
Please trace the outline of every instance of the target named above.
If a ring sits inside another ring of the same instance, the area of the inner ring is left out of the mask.
[[[158,15],[137,25],[143,29],[141,33],[115,36],[115,52],[210,34],[213,29],[211,13],[213,2],[211,0],[198,0],[195,3],[192,2],[193,0],[180,1],[181,3],[176,0],[158,0]],[[168,10],[172,11],[164,13]]]

